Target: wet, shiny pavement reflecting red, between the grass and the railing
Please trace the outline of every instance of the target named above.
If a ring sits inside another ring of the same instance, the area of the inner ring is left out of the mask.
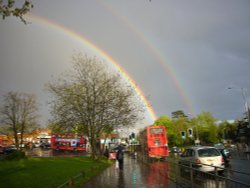
[[[170,165],[158,161],[148,164],[125,155],[124,169],[120,171],[115,164],[93,178],[82,188],[158,188],[176,187],[170,181]]]

